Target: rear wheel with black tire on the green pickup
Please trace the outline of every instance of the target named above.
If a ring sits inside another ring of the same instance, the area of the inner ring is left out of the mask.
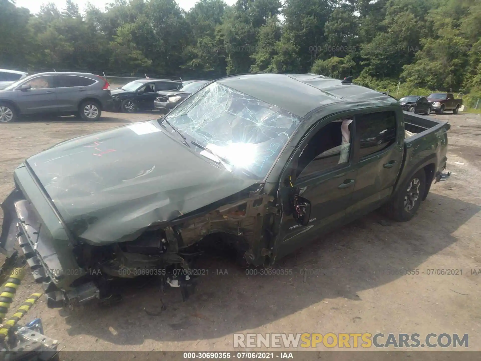
[[[421,169],[399,187],[394,197],[383,206],[383,210],[390,218],[399,222],[410,220],[418,211],[424,192],[426,173]]]

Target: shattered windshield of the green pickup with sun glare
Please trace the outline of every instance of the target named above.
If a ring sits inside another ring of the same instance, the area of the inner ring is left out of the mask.
[[[299,116],[219,83],[194,93],[164,119],[259,178],[266,176],[301,122]]]

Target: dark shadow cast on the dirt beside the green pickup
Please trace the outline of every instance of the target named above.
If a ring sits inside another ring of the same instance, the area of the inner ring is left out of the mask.
[[[138,286],[126,285],[124,300],[112,308],[89,305],[68,311],[68,334],[122,345],[140,345],[148,339],[206,340],[255,329],[326,298],[362,302],[360,291],[399,277],[416,277],[389,270],[420,269],[427,258],[455,243],[452,233],[480,210],[475,204],[430,193],[409,222],[391,222],[373,212],[322,236],[279,261],[275,270],[287,271],[284,275],[253,275],[228,259],[207,256],[201,267],[209,274],[199,278],[197,292],[187,302],[181,301],[178,288],[167,287],[162,295],[155,282],[146,280],[142,287],[139,280]],[[162,303],[166,309],[153,316],[152,310],[159,311]],[[228,347],[228,341],[219,342]]]

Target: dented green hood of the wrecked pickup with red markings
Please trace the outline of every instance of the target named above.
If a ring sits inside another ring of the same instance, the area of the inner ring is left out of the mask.
[[[96,245],[133,240],[256,183],[172,139],[156,120],[75,138],[26,162],[67,228]]]

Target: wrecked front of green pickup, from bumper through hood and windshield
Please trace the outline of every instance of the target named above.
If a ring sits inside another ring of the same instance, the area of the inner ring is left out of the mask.
[[[179,270],[209,237],[272,263],[279,209],[266,176],[300,121],[213,82],[164,118],[57,144],[15,169],[1,251],[18,243],[49,307],[108,299],[114,279],[138,275],[185,298],[192,278]]]

